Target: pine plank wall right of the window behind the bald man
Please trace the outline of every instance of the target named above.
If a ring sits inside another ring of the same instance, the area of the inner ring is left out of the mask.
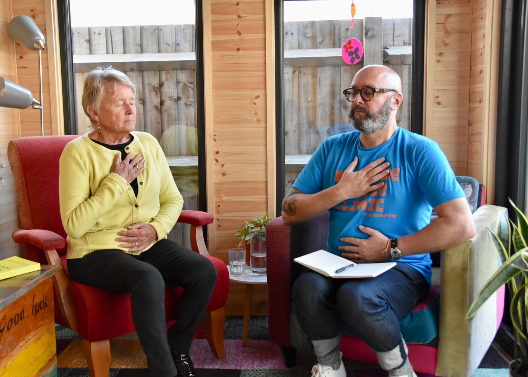
[[[429,5],[424,134],[437,141],[457,175],[468,160],[472,0]]]

